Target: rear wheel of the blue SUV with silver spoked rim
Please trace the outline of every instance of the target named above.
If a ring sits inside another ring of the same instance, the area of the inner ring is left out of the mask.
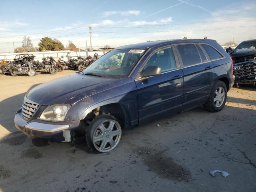
[[[210,93],[204,108],[210,112],[218,112],[222,110],[227,100],[228,90],[226,84],[222,81],[217,81]]]

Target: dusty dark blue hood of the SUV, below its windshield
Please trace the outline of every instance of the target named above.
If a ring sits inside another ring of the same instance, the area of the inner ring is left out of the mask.
[[[36,86],[26,94],[26,97],[40,105],[65,104],[75,96],[90,96],[115,86],[113,84],[117,82],[118,85],[122,84],[122,80],[118,78],[77,73]]]

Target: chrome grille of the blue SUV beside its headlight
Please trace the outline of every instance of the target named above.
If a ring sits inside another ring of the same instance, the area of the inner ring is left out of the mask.
[[[22,104],[22,117],[26,120],[31,120],[31,118],[34,116],[35,112],[38,109],[38,104],[35,102],[32,102],[28,100],[27,98],[24,98],[23,104]]]

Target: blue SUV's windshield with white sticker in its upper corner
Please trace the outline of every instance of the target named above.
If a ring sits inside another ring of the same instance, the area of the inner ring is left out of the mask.
[[[127,77],[144,51],[143,49],[112,50],[93,62],[83,73],[104,77]]]

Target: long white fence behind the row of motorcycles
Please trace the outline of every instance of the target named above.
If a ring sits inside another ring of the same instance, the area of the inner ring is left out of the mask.
[[[52,56],[55,60],[58,60],[63,56],[63,60],[68,61],[70,58],[77,58],[78,56],[86,57],[88,55],[94,56],[95,53],[98,53],[99,56],[102,56],[105,52],[103,51],[44,51],[44,52],[27,52],[27,54],[33,54],[36,56],[34,60],[42,61],[42,58],[47,56]],[[26,53],[0,53],[0,60],[13,61],[17,54],[26,54]]]

